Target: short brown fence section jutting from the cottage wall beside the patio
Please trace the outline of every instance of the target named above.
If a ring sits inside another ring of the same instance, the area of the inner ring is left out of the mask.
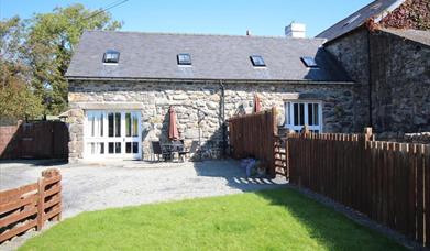
[[[275,175],[274,137],[277,133],[276,109],[229,119],[229,142],[234,159],[262,160],[271,176]]]

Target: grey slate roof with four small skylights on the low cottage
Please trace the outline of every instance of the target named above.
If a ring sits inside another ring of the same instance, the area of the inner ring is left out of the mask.
[[[322,43],[321,39],[88,31],[66,77],[350,81]],[[102,63],[107,50],[121,53],[118,65]],[[191,55],[191,67],[177,65],[179,53]],[[263,56],[267,67],[253,67],[251,55]],[[301,56],[315,56],[319,68],[307,68]]]

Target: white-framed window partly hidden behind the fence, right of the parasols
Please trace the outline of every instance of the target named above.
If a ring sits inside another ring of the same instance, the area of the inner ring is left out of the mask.
[[[322,109],[319,101],[285,102],[285,127],[300,132],[307,124],[312,132],[322,132]]]

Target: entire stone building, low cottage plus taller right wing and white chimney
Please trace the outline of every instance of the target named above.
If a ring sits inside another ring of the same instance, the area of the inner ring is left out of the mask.
[[[408,13],[408,14],[405,14]],[[263,109],[316,132],[430,131],[430,3],[377,0],[315,39],[89,31],[66,74],[69,160],[142,159],[180,138],[225,150],[225,120]]]

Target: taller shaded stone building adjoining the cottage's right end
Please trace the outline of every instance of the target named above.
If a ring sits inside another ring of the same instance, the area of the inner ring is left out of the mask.
[[[429,1],[378,0],[318,35],[357,84],[357,126],[430,131],[430,31],[417,29],[430,29]]]

